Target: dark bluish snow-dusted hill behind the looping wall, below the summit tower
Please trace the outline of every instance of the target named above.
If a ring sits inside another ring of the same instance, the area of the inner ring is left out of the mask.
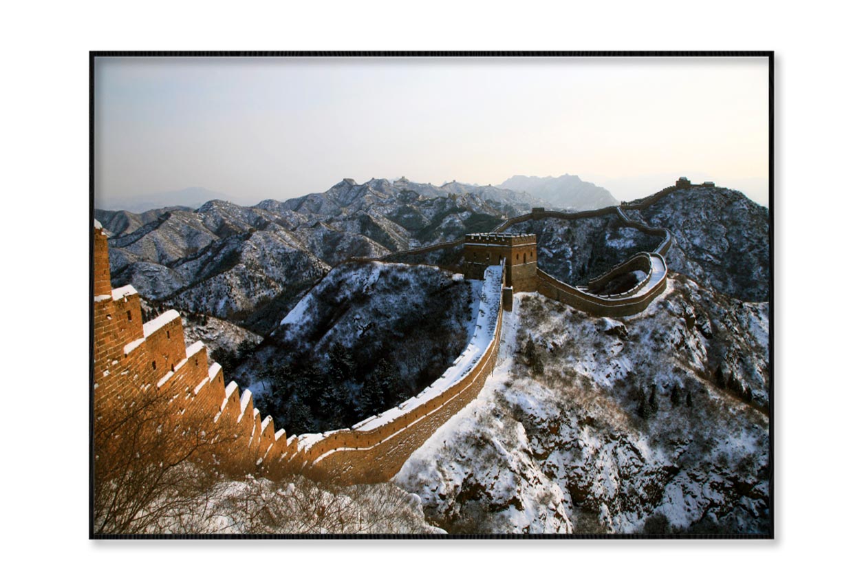
[[[643,209],[626,209],[626,215],[671,231],[671,271],[740,300],[768,299],[769,212],[741,192],[693,186],[672,191]],[[528,220],[507,232],[536,234],[540,268],[569,284],[584,284],[661,242],[658,236],[624,226],[614,212],[575,220]]]

